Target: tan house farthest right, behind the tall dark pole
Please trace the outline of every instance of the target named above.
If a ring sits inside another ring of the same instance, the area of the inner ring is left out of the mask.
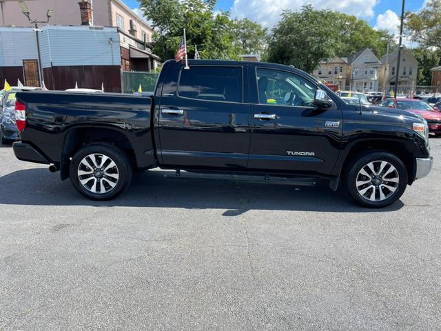
[[[398,50],[384,55],[381,58],[380,85],[386,89],[395,86],[398,74],[398,86],[414,90],[418,83],[418,63],[412,52],[407,48],[401,51],[400,72],[397,72]]]

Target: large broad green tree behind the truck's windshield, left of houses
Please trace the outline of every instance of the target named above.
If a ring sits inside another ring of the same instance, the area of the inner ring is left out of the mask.
[[[308,5],[300,12],[283,12],[271,32],[267,60],[312,72],[322,60],[347,57],[363,48],[381,57],[387,38],[387,32],[373,30],[366,21]]]

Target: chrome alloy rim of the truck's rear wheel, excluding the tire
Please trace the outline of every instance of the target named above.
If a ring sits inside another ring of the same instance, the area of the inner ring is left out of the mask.
[[[116,163],[104,154],[89,154],[78,165],[78,180],[94,194],[105,194],[113,190],[119,181]]]

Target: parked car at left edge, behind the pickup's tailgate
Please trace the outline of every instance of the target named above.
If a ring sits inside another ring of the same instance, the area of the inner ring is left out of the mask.
[[[13,86],[10,91],[2,90],[0,97],[0,141],[3,144],[19,139],[19,130],[15,124],[15,94],[23,90],[41,90],[41,88]]]

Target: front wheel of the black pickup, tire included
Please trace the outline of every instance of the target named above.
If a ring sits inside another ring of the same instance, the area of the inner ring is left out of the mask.
[[[347,167],[345,187],[359,205],[386,207],[400,199],[406,190],[407,169],[398,157],[389,152],[360,154]]]

